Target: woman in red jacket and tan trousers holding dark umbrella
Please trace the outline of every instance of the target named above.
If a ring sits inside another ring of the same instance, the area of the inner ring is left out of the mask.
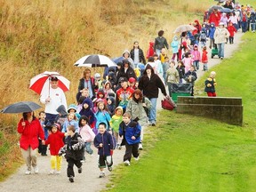
[[[20,133],[20,148],[22,156],[27,164],[25,174],[31,174],[31,168],[38,173],[36,153],[39,146],[38,137],[44,140],[44,131],[39,120],[34,116],[34,112],[26,112],[22,114],[22,118],[18,124],[18,132]]]

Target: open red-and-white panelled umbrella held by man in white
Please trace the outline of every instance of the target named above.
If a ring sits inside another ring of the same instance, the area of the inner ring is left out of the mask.
[[[29,89],[34,92],[41,94],[41,92],[49,92],[50,90],[50,79],[52,76],[58,77],[58,87],[63,90],[63,92],[67,92],[69,90],[69,84],[67,78],[61,76],[58,72],[50,72],[44,71],[44,73],[34,76],[30,79]]]

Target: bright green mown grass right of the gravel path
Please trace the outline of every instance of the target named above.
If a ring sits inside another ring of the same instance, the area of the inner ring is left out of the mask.
[[[163,110],[161,124],[149,128],[146,152],[138,163],[116,168],[110,191],[255,191],[253,35],[244,35],[240,51],[213,68],[218,95],[243,98],[244,126]],[[197,89],[204,90],[206,76]]]

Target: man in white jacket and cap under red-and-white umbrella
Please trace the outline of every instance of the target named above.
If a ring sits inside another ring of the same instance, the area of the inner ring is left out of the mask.
[[[57,108],[64,105],[67,109],[67,100],[64,92],[58,87],[59,79],[57,76],[51,77],[49,92],[41,92],[40,101],[45,105],[46,119],[52,124],[58,116]]]

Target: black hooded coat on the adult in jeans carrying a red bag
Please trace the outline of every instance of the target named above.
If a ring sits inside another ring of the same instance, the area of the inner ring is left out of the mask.
[[[151,70],[150,78],[147,75],[148,68]],[[164,96],[167,95],[164,83],[162,82],[161,78],[155,74],[154,69],[150,65],[147,65],[143,76],[140,77],[138,87],[143,92],[143,95],[148,97],[149,100],[151,98],[158,98],[158,88],[161,89],[161,92],[164,94]]]

